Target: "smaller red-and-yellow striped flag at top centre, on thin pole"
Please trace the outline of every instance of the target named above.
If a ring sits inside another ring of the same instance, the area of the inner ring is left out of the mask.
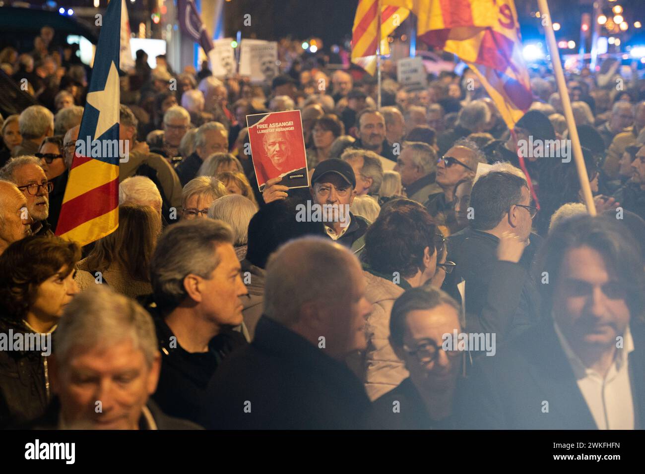
[[[390,54],[388,36],[408,17],[410,10],[388,5],[381,0],[381,54]],[[376,50],[379,39],[379,0],[359,0],[352,28],[352,63],[370,74],[376,71]]]

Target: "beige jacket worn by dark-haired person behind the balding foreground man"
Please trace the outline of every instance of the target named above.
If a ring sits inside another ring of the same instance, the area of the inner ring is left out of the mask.
[[[365,297],[372,303],[372,313],[366,324],[367,349],[363,376],[370,400],[396,388],[408,377],[401,359],[390,346],[390,313],[394,301],[403,294],[401,286],[369,272],[363,272],[367,289]]]

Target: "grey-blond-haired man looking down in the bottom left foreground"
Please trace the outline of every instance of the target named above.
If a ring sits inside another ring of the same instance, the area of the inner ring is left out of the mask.
[[[161,368],[152,318],[104,285],[79,293],[66,306],[49,364],[55,398],[45,415],[25,428],[199,429],[165,415],[150,399]]]

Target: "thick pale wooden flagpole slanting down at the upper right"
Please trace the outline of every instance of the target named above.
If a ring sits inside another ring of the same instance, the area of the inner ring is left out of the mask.
[[[553,72],[555,73],[555,80],[558,85],[558,92],[562,100],[562,108],[564,109],[564,118],[566,119],[567,127],[569,129],[569,137],[571,139],[571,148],[573,148],[573,161],[578,171],[578,178],[580,179],[580,186],[582,189],[582,197],[584,204],[587,206],[587,211],[591,215],[596,215],[596,206],[593,202],[593,195],[591,194],[591,186],[589,184],[589,175],[584,166],[584,158],[582,157],[582,147],[580,145],[580,137],[578,136],[578,129],[575,126],[573,119],[573,110],[571,110],[571,100],[569,92],[566,88],[564,81],[564,72],[562,71],[562,63],[558,51],[557,43],[555,42],[555,32],[553,32],[553,23],[551,23],[551,13],[549,12],[549,5],[546,0],[537,0],[540,12],[542,15],[546,14],[546,25],[544,25],[544,32],[546,33],[546,41],[549,45],[551,53],[551,61],[553,61]]]

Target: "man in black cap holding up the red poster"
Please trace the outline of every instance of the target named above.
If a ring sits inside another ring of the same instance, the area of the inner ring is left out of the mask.
[[[325,232],[333,240],[352,250],[362,246],[362,238],[368,221],[349,212],[356,192],[356,177],[352,166],[340,159],[329,159],[321,162],[312,175],[310,189],[313,202],[319,206],[325,204],[339,207],[340,219],[324,222]]]

